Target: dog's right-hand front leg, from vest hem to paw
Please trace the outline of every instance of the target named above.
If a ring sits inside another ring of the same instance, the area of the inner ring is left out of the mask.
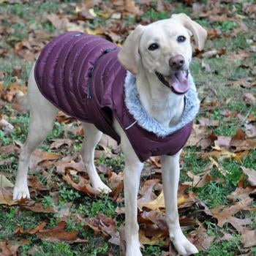
[[[174,156],[163,156],[162,184],[165,195],[166,222],[169,228],[170,240],[176,247],[179,255],[192,255],[197,253],[197,248],[187,240],[182,233],[178,220],[177,192],[180,174],[178,152]]]

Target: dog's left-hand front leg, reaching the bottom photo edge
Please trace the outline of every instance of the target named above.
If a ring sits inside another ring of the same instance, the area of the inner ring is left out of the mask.
[[[125,203],[125,241],[126,256],[141,256],[137,222],[137,196],[140,187],[140,173],[143,163],[140,162],[126,137],[121,138],[124,152],[124,203]]]

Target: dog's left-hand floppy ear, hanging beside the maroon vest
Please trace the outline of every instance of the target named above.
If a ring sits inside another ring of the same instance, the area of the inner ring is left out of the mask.
[[[139,44],[143,31],[144,26],[138,25],[136,29],[129,34],[117,56],[121,65],[125,69],[128,69],[129,72],[132,72],[133,75],[138,74],[138,64],[140,61]]]

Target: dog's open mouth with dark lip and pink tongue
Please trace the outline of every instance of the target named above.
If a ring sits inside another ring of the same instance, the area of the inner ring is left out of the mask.
[[[165,79],[164,75],[155,72],[157,78],[175,94],[185,94],[189,90],[189,82],[187,80],[189,71],[178,70],[170,78]]]

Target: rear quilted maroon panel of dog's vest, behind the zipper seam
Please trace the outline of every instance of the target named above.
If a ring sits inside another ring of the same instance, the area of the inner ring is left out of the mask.
[[[89,70],[104,50],[116,48],[102,37],[68,32],[45,46],[34,76],[39,91],[53,105],[81,121],[93,121],[86,110]]]

